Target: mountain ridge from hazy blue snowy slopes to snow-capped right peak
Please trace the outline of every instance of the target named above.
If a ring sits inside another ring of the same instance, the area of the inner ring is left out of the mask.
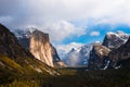
[[[117,33],[107,33],[103,44],[95,42],[72,49],[66,53],[64,62],[68,66],[88,65],[89,69],[106,70],[114,66],[109,53],[127,42],[130,35],[118,30]],[[115,55],[115,54],[114,54]]]

